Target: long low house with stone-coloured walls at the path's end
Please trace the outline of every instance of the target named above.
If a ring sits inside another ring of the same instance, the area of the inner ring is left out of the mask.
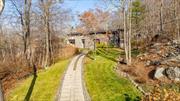
[[[106,45],[113,45],[116,47],[120,47],[121,44],[121,33],[122,29],[118,30],[109,30],[109,31],[97,31],[97,32],[89,32],[88,34],[82,34],[79,32],[74,32],[68,34],[67,43],[71,44],[78,48],[94,48],[94,40],[96,43],[103,43]]]

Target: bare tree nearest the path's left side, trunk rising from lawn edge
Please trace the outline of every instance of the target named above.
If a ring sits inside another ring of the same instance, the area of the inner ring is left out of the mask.
[[[45,57],[44,57],[44,66],[47,67],[51,63],[54,62],[54,48],[53,48],[53,36],[55,33],[55,28],[57,28],[55,25],[59,22],[61,24],[62,20],[66,19],[63,15],[59,16],[59,14],[62,14],[60,11],[61,8],[59,7],[59,2],[57,0],[40,0],[39,1],[39,8],[41,10],[42,15],[41,20],[43,24],[43,32],[45,33]],[[64,12],[64,14],[66,11]],[[61,19],[63,17],[63,19]],[[68,17],[67,17],[68,18]],[[60,25],[62,26],[62,25]],[[58,27],[60,27],[58,26]]]

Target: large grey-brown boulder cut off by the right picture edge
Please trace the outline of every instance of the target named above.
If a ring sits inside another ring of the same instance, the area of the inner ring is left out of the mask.
[[[175,81],[180,80],[180,68],[179,67],[169,67],[165,70],[166,76]]]

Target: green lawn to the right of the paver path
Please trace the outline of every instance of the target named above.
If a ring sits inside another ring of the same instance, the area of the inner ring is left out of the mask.
[[[117,49],[98,49],[96,60],[86,58],[85,82],[92,101],[138,101],[141,94],[126,78],[113,70]],[[92,53],[88,57],[94,57]]]

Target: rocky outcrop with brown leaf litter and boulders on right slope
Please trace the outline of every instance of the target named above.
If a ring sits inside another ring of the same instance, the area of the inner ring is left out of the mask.
[[[173,40],[168,43],[155,43],[147,50],[148,52],[138,58],[144,61],[146,67],[156,69],[154,78],[180,81],[180,42]]]

